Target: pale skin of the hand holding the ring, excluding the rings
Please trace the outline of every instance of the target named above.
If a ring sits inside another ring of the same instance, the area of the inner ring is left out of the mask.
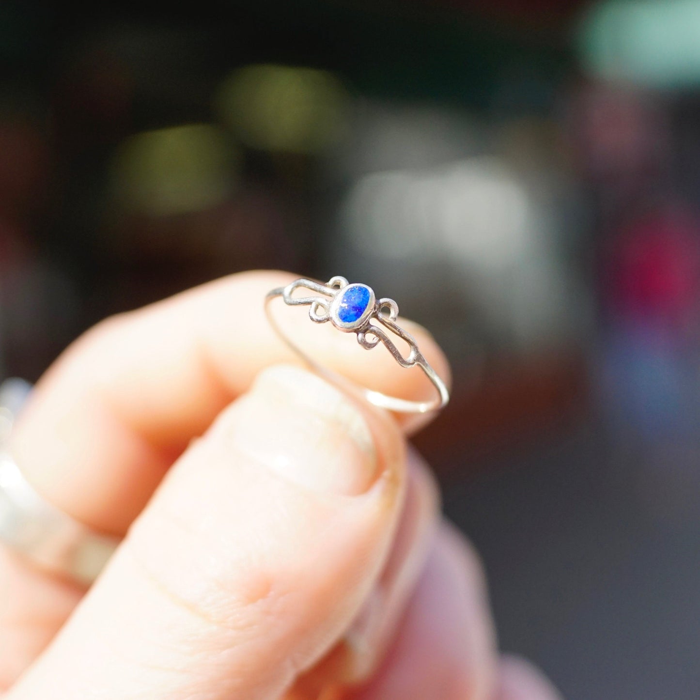
[[[15,458],[124,540],[89,591],[0,546],[4,700],[559,698],[498,654],[479,559],[407,449],[425,417],[319,379],[269,329],[262,298],[291,279],[230,276],[112,318],[38,383]],[[289,322],[351,382],[429,391],[381,348]]]

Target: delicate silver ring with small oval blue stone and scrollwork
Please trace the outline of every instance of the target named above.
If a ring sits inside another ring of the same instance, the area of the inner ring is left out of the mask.
[[[299,288],[315,292],[316,295],[294,297],[293,293]],[[330,378],[334,378],[336,375],[318,365],[282,332],[270,311],[269,302],[276,297],[281,297],[288,306],[310,306],[309,318],[311,321],[314,323],[330,321],[338,330],[356,333],[358,343],[367,350],[371,350],[381,342],[401,367],[420,367],[437,391],[437,397],[433,400],[409,401],[395,396],[387,396],[379,391],[365,389],[365,396],[370,403],[401,413],[426,413],[442,408],[449,401],[449,391],[447,391],[444,381],[423,357],[414,337],[396,323],[398,304],[393,299],[377,299],[372,288],[366,284],[351,284],[340,276],[332,277],[325,284],[311,279],[297,279],[286,287],[278,287],[267,293],[265,311],[269,323],[277,335],[316,372]],[[385,329],[408,344],[409,353],[407,356],[402,355]]]

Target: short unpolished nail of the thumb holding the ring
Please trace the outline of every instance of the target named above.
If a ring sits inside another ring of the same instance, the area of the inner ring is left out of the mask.
[[[377,476],[377,452],[362,410],[298,367],[261,372],[227,423],[235,449],[308,489],[357,496]]]

